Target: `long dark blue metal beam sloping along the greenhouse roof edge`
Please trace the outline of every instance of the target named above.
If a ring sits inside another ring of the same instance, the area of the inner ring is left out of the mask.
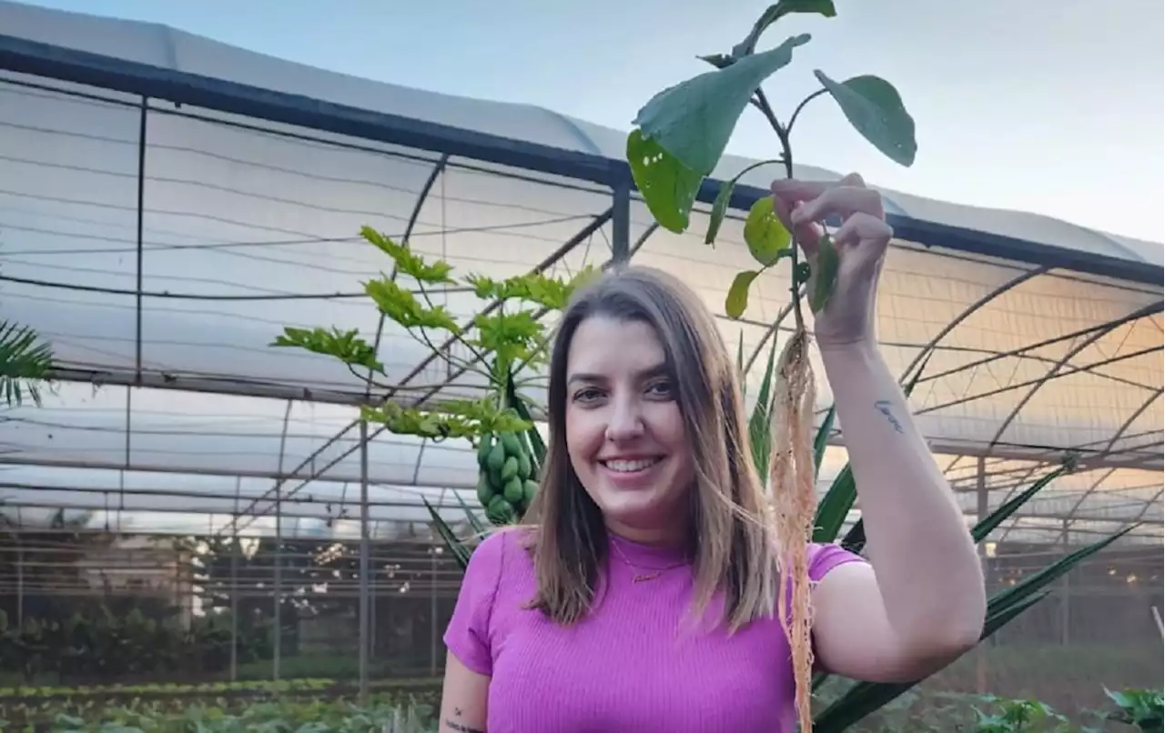
[[[624,184],[634,186],[627,162],[619,158],[372,112],[10,35],[0,34],[0,69],[417,150],[446,152],[587,180],[610,188]],[[720,180],[705,179],[700,185],[698,200],[712,204],[721,184]],[[748,211],[756,200],[767,195],[770,192],[764,188],[736,185],[729,207]],[[898,214],[888,214],[887,220],[899,239],[926,247],[1005,257],[1151,285],[1159,285],[1163,277],[1163,268],[1155,263],[1095,251],[1066,250],[1040,242],[920,221]]]

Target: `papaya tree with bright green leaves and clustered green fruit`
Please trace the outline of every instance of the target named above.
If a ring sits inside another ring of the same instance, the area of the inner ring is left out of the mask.
[[[560,312],[574,289],[594,270],[586,268],[571,278],[545,273],[502,279],[476,273],[456,277],[450,263],[428,259],[381,232],[365,227],[360,234],[387,256],[395,272],[362,284],[380,313],[444,362],[450,373],[468,373],[485,385],[478,399],[435,400],[426,405],[379,400],[361,407],[361,419],[383,425],[397,435],[435,442],[469,441],[479,456],[478,499],[489,521],[506,525],[520,519],[532,498],[545,454],[531,417],[541,405],[523,391],[543,378],[549,339],[544,316]],[[433,303],[436,291],[446,287],[467,287],[481,301],[468,322],[458,322],[449,308]],[[458,351],[468,356],[456,356],[439,342],[456,343],[461,347]],[[354,329],[289,326],[271,346],[337,358],[361,380],[370,378],[373,387],[386,394],[400,386],[386,382],[388,375],[376,349]],[[358,371],[361,369],[367,375]],[[457,541],[432,506],[429,511],[454,557],[467,560],[468,548]],[[471,513],[471,518],[474,528],[483,532],[476,515]]]

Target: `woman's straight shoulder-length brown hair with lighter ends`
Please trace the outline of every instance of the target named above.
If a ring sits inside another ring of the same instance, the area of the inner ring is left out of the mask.
[[[686,550],[693,561],[693,611],[716,591],[729,629],[771,615],[777,600],[777,549],[764,486],[753,465],[748,421],[736,375],[715,320],[678,278],[643,266],[610,270],[577,291],[563,313],[550,356],[550,442],[542,483],[523,524],[537,577],[530,606],[560,624],[591,609],[607,529],[566,449],[566,362],[579,325],[592,316],[650,326],[666,357],[684,430],[694,456]]]

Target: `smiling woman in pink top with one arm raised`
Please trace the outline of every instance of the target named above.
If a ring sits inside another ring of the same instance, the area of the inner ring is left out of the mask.
[[[810,548],[814,656],[852,678],[917,679],[977,642],[986,599],[962,513],[877,351],[891,229],[856,175],[781,180],[772,193],[811,264],[813,222],[843,220],[814,336],[869,561]],[[663,273],[603,276],[564,313],[549,417],[532,526],[489,536],[466,570],[445,634],[440,730],[791,732],[778,563],[712,314]]]

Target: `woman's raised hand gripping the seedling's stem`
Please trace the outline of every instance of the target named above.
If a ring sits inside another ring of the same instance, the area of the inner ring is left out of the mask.
[[[842,220],[833,234],[838,250],[838,279],[828,303],[814,316],[813,330],[821,349],[875,341],[875,300],[882,262],[894,236],[885,222],[882,194],[866,187],[857,173],[836,183],[796,179],[772,182],[774,211],[793,233],[810,268],[817,268],[817,223],[831,215]],[[813,279],[810,279],[812,289]]]

